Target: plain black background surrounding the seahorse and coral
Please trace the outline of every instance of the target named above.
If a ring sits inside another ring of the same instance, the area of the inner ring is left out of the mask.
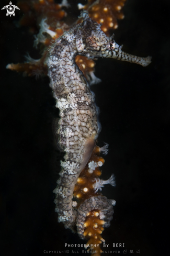
[[[1,8],[8,2],[1,1]],[[69,2],[72,9],[67,12],[74,22],[81,1]],[[152,63],[143,68],[99,59],[95,74],[102,82],[92,87],[102,127],[98,145],[109,143],[102,177],[114,173],[117,183],[115,188],[103,188],[103,194],[117,202],[103,238],[108,250],[113,249],[112,243],[124,243],[127,255],[168,254],[169,11],[166,0],[127,0],[115,40],[125,52],[151,55]],[[43,250],[66,250],[64,243],[85,241],[58,224],[54,213],[52,191],[62,155],[52,134],[58,110],[49,79],[36,80],[5,69],[8,63],[24,62],[27,52],[34,59],[40,56],[28,28],[16,26],[23,14],[19,10],[15,14],[6,17],[6,10],[0,10],[0,250],[2,255],[44,255]],[[140,254],[135,253],[138,249]],[[85,255],[81,251],[76,254],[70,249],[62,255]],[[121,255],[126,254],[121,250]]]

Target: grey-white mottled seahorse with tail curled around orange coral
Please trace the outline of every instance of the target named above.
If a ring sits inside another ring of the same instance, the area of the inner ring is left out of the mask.
[[[58,186],[54,190],[55,211],[58,213],[58,221],[62,221],[65,228],[74,232],[77,225],[78,234],[84,238],[85,219],[93,210],[97,210],[96,216],[103,220],[100,221],[101,225],[110,225],[115,201],[96,193],[107,183],[98,178],[91,179],[93,193],[78,204],[72,200],[76,183],[81,183],[81,179],[85,177],[84,174],[80,175],[85,166],[86,169],[89,168],[89,173],[93,173],[97,166],[97,163],[89,160],[93,151],[102,151],[96,148],[96,140],[101,130],[99,108],[88,81],[75,63],[75,57],[83,55],[88,59],[113,58],[142,66],[150,64],[151,57],[141,58],[123,52],[122,46],[115,42],[114,35],[107,37],[100,29],[101,24],[90,19],[86,10],[83,10],[79,18],[83,18],[81,24],[65,31],[54,41],[46,63],[56,107],[60,109],[60,120],[56,128],[58,145],[65,152],[65,160],[61,161],[62,170],[59,173]],[[98,166],[101,166],[104,161],[99,162]],[[108,183],[114,185],[111,180]],[[84,192],[87,190],[88,188]]]

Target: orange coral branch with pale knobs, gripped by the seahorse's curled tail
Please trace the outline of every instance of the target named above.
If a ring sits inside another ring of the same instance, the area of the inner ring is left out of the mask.
[[[92,156],[90,157],[88,163],[85,168],[81,172],[80,176],[77,179],[77,183],[74,188],[74,197],[78,200],[78,204],[76,204],[75,208],[78,208],[85,199],[97,196],[100,193],[96,193],[94,185],[96,183],[95,178],[98,178],[101,175],[101,171],[99,170],[99,166],[103,165],[105,160],[100,157],[100,148],[98,146],[94,147],[92,152]],[[92,161],[96,164],[96,168],[93,171],[89,169],[89,163]],[[100,249],[99,244],[101,242],[105,242],[105,240],[100,236],[104,230],[103,225],[105,221],[99,218],[100,210],[95,209],[90,211],[86,215],[86,219],[84,222],[84,237],[88,240],[87,246],[90,249],[93,249],[92,256],[99,256],[102,250]],[[96,247],[90,246],[90,244],[98,244]],[[89,250],[90,250],[89,249]]]

